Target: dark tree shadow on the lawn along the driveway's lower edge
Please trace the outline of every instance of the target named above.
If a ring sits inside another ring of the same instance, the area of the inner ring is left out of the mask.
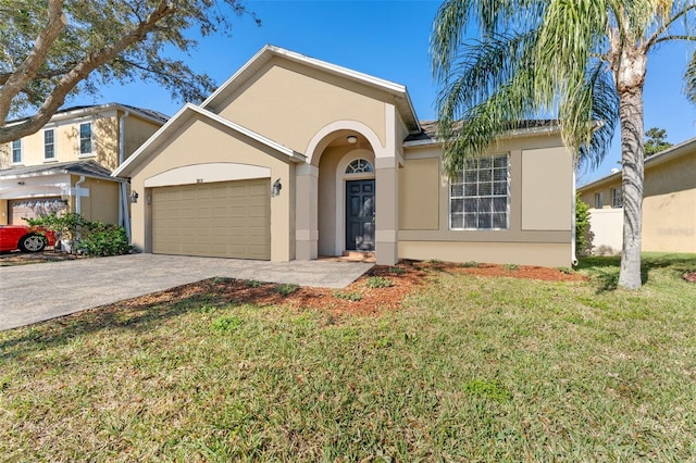
[[[214,309],[237,305],[229,292],[219,292],[220,285],[232,279],[212,278],[165,291],[126,299],[114,304],[88,309],[36,325],[15,328],[7,339],[0,341],[0,359],[21,355],[46,348],[63,346],[72,339],[105,329],[129,329],[147,331],[153,323],[176,317],[201,308]],[[14,336],[13,336],[14,335]],[[9,352],[12,350],[12,352]]]

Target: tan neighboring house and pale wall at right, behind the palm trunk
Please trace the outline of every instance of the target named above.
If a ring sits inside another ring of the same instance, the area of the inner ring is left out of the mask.
[[[620,253],[621,172],[577,191],[591,207],[593,253]],[[642,243],[646,252],[696,252],[696,138],[645,159]]]

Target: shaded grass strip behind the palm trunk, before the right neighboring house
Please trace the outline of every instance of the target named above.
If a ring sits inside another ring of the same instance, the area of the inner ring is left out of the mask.
[[[687,272],[696,272],[696,254],[644,253],[641,259],[641,281],[647,284],[651,271],[667,267],[672,268],[676,278]],[[575,268],[587,272],[599,284],[597,292],[613,291],[619,286],[621,256],[581,258]]]

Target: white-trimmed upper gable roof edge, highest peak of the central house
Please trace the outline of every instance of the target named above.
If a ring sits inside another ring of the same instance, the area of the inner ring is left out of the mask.
[[[363,84],[391,95],[395,97],[396,107],[409,130],[413,134],[421,132],[421,125],[418,121],[418,116],[415,115],[415,110],[406,86],[359,73],[336,64],[327,63],[325,61],[316,60],[314,58],[306,57],[272,45],[266,45],[257,54],[254,54],[253,58],[247,61],[244,66],[241,66],[232,77],[229,77],[201,103],[201,108],[214,105],[215,102],[223,101],[228,98],[273,58],[282,58],[284,60]]]

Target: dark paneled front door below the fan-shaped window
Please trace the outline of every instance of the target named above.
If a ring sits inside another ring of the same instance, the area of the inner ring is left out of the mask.
[[[374,179],[346,182],[346,250],[374,251]]]

